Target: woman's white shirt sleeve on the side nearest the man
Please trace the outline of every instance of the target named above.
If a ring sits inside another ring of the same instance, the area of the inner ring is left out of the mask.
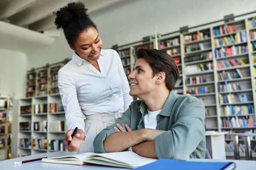
[[[119,57],[119,54],[117,52],[116,52],[116,55],[117,55],[117,58],[118,58],[118,63],[117,63],[118,72],[119,72],[119,75],[120,75],[121,80],[122,80],[122,94],[123,94],[123,97],[124,97],[124,111],[126,111],[129,108],[129,105],[131,104],[131,102],[133,100],[132,100],[132,97],[129,94],[130,87],[129,87],[128,79],[125,75],[124,68],[122,66],[122,61],[121,61],[121,59]]]

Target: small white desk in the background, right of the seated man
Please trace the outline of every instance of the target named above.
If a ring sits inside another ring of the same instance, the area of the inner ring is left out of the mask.
[[[225,134],[228,132],[205,133],[206,147],[212,159],[226,159]]]

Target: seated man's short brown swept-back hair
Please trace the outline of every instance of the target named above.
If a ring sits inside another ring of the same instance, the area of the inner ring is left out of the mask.
[[[152,78],[163,71],[166,74],[165,83],[169,91],[172,91],[175,82],[179,78],[178,67],[174,59],[166,52],[157,49],[139,49],[135,52],[137,59],[144,58],[153,71]]]

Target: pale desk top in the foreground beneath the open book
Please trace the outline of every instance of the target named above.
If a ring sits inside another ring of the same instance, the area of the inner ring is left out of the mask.
[[[21,158],[8,159],[0,161],[0,169],[2,170],[125,170],[126,168],[114,168],[98,165],[68,165],[68,164],[51,164],[42,163],[40,161],[32,161],[24,164],[15,165],[15,161],[22,161],[28,159],[35,159],[40,157],[55,157],[64,155],[73,155],[77,153],[69,152],[51,152],[39,153]],[[255,170],[256,161],[242,161],[242,160],[217,160],[217,159],[189,159],[189,161],[233,161],[236,163],[236,170]]]

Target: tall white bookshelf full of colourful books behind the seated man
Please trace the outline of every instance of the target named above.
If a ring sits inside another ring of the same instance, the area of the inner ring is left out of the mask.
[[[151,40],[128,49],[133,48],[134,57],[136,49],[155,45]],[[175,92],[189,93],[204,103],[206,130],[256,133],[256,17],[169,34],[159,37],[157,45],[179,68]],[[226,155],[233,156],[228,148],[232,141],[225,137]],[[239,143],[244,147],[244,139]],[[251,147],[255,157],[255,136]]]

